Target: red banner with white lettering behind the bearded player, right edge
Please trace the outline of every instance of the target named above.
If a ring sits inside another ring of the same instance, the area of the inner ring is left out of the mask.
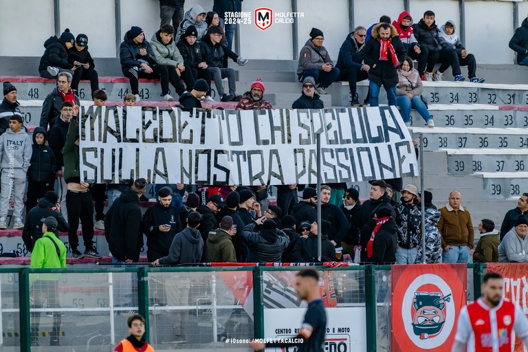
[[[520,305],[528,313],[528,265],[523,263],[487,263],[487,272],[496,272],[503,276],[504,298]],[[522,340],[511,339],[511,351],[524,352]]]

